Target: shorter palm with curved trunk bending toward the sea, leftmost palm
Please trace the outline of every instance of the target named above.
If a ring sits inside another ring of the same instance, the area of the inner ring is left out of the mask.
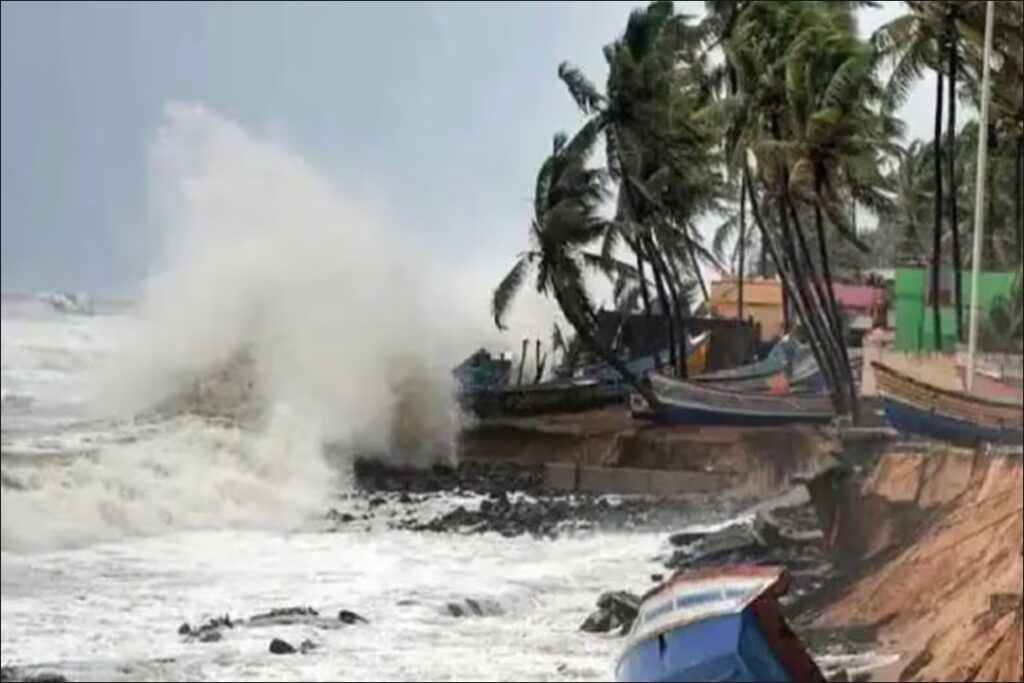
[[[596,335],[597,314],[584,272],[588,263],[601,260],[585,253],[583,248],[607,229],[607,221],[600,215],[607,195],[605,174],[587,166],[597,137],[598,130],[593,124],[585,125],[571,140],[563,133],[555,135],[551,155],[537,175],[530,249],[519,255],[495,289],[492,312],[495,325],[504,329],[503,319],[516,293],[527,275],[535,273],[536,290],[555,299],[581,343],[617,370],[656,407],[657,399],[649,389]]]

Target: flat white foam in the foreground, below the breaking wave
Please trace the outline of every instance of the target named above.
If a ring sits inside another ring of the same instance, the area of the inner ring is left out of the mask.
[[[3,646],[14,664],[135,663],[129,671],[143,679],[607,680],[622,641],[579,626],[600,592],[643,580],[663,541],[207,532],[31,563],[5,556]],[[453,618],[445,604],[466,597],[493,600],[503,614]],[[175,633],[203,615],[288,605],[352,609],[371,624],[234,630],[213,644]],[[322,647],[271,657],[271,637]]]

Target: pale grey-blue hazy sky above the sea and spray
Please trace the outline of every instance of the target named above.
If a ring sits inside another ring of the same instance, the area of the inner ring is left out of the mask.
[[[603,80],[636,4],[3,2],[3,290],[138,282],[168,101],[282,140],[437,254],[509,262],[552,133],[580,121],[557,66]],[[908,105],[916,134],[931,102]]]

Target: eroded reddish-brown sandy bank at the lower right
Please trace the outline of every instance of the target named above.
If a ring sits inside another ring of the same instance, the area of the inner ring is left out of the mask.
[[[840,540],[862,573],[819,626],[878,627],[903,655],[879,680],[1021,681],[1020,457],[889,454],[858,500]]]

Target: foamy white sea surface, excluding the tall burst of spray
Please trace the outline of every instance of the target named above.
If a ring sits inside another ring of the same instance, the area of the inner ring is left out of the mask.
[[[328,532],[328,507],[355,503],[294,435],[95,414],[99,371],[137,325],[4,303],[5,666],[77,680],[611,678],[622,641],[578,628],[601,592],[643,588],[664,533]],[[446,603],[467,597],[501,613],[453,617]],[[370,624],[233,629],[216,643],[177,635],[184,622],[297,605]],[[317,647],[273,656],[273,637]]]

